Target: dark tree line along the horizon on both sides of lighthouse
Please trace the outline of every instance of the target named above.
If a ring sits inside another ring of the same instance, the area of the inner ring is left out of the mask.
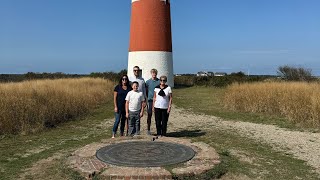
[[[56,73],[35,73],[28,72],[26,74],[0,74],[0,82],[20,82],[24,80],[35,79],[62,79],[62,78],[80,78],[80,77],[93,77],[110,79],[117,82],[123,74],[127,74],[127,70],[123,69],[119,72],[92,72],[90,74],[66,74],[62,72]],[[286,81],[314,81],[317,80],[312,74],[311,69],[303,67],[294,67],[289,65],[279,66],[277,69],[278,76],[261,76],[250,75],[246,76],[243,72],[233,72],[226,76],[221,77],[195,77],[190,74],[176,76],[175,84],[178,86],[193,86],[193,85],[206,85],[206,86],[226,86],[234,82],[254,82],[262,81],[270,78],[280,78]]]

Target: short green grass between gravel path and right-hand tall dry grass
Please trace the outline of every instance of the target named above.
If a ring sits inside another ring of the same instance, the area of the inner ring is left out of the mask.
[[[225,120],[240,120],[253,123],[273,124],[285,128],[296,128],[286,118],[263,113],[236,112],[224,107],[225,88],[210,88],[195,86],[176,88],[175,101],[180,107],[190,109],[195,113],[213,115]],[[192,96],[190,96],[190,94]]]

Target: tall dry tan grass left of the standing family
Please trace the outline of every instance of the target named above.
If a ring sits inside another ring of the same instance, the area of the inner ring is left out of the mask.
[[[110,99],[112,86],[92,78],[0,84],[0,134],[35,132],[79,117]]]

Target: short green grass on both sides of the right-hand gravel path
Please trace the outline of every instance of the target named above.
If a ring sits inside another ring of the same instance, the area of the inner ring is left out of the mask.
[[[174,104],[196,114],[214,115],[230,121],[248,121],[253,123],[274,124],[297,129],[285,118],[258,113],[234,112],[224,108],[225,88],[190,87],[176,88],[173,91]],[[202,130],[201,124],[192,127],[189,132],[199,132],[199,136],[190,136],[185,132],[178,137],[192,138],[214,147],[223,159],[216,171],[225,172],[225,179],[318,179],[313,168],[304,161],[291,155],[278,152],[269,145],[240,136],[236,131],[215,128]],[[210,129],[210,130],[208,130]],[[303,130],[298,128],[299,130]],[[214,170],[213,170],[214,171]],[[210,179],[208,176],[199,179]]]

